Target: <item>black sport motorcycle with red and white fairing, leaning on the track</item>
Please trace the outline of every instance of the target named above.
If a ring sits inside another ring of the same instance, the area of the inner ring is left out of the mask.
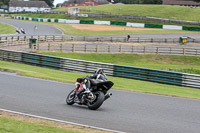
[[[90,82],[90,87],[87,88],[86,84]],[[77,103],[79,105],[87,105],[89,109],[98,109],[105,100],[110,98],[112,93],[107,93],[108,90],[114,85],[112,81],[102,81],[93,79],[84,79],[81,83],[84,88],[84,92],[81,93],[81,102],[78,100],[76,95],[76,90],[73,89],[66,98],[66,103],[68,105],[73,105]]]

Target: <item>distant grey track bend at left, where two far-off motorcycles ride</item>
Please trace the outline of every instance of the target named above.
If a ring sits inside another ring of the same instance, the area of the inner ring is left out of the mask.
[[[13,20],[13,19],[3,19],[3,18],[0,18],[0,22],[12,25],[18,29],[23,28],[26,32],[26,34],[16,33],[14,35],[2,35],[2,36],[63,35],[63,32],[60,31],[59,29],[53,26],[45,25],[45,24],[19,21],[19,20]]]

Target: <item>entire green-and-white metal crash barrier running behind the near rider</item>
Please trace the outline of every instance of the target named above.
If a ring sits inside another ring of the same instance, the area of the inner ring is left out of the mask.
[[[96,68],[101,67],[110,76],[200,89],[200,75],[195,74],[121,66],[8,50],[0,50],[0,60],[84,73],[93,73]]]

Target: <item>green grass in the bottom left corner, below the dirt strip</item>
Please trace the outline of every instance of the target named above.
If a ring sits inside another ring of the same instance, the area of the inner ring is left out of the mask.
[[[78,133],[56,127],[42,126],[0,117],[0,133]]]

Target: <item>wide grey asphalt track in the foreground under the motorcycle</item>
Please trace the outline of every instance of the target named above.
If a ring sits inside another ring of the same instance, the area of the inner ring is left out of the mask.
[[[73,84],[0,72],[0,108],[127,133],[199,133],[200,100],[110,90],[96,111],[66,105]]]

